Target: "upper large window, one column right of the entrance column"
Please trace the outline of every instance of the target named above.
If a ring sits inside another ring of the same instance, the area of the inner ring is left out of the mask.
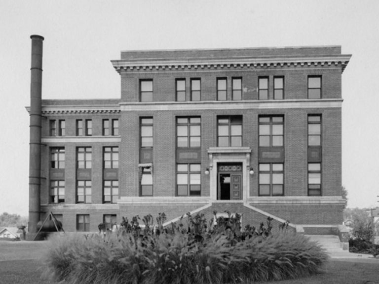
[[[283,116],[259,117],[259,146],[283,146]]]

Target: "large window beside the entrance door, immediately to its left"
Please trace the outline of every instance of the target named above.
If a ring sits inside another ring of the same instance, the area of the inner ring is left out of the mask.
[[[200,195],[201,190],[200,164],[177,164],[177,195]]]

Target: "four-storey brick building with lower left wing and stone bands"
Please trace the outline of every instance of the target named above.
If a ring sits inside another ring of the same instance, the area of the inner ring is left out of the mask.
[[[41,101],[40,219],[342,223],[340,46],[122,51],[119,99]]]

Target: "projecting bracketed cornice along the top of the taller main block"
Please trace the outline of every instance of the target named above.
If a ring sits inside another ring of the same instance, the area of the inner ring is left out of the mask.
[[[231,59],[188,59],[188,60],[112,60],[118,73],[127,71],[158,70],[197,70],[197,69],[252,69],[290,66],[341,66],[342,71],[351,55],[332,55],[314,57],[267,57],[267,58],[231,58]]]

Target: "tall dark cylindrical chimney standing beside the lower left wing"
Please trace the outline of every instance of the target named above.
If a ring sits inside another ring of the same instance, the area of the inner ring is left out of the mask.
[[[30,154],[29,154],[29,234],[33,239],[37,233],[40,214],[41,172],[41,94],[42,94],[42,41],[33,34],[30,82]]]

